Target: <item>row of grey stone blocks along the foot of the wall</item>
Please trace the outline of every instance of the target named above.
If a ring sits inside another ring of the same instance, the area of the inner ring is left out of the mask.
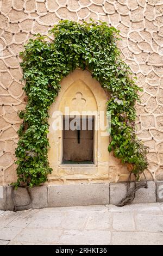
[[[134,183],[131,183],[134,186]],[[105,205],[120,203],[126,196],[127,183],[93,183],[78,185],[43,185],[30,188],[33,202],[25,188],[14,190],[14,202],[17,210],[40,209],[58,206]],[[163,181],[149,181],[148,188],[136,192],[133,203],[163,202]],[[22,206],[21,206],[22,205]],[[0,209],[13,210],[11,187],[0,186]]]

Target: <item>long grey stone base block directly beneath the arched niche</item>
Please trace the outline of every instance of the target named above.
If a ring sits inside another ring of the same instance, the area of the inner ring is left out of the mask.
[[[48,186],[48,207],[109,204],[109,184]]]

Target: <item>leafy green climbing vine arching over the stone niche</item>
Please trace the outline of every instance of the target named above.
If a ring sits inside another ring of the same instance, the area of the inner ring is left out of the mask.
[[[18,113],[23,123],[16,149],[17,186],[39,185],[52,172],[47,150],[48,109],[60,90],[60,81],[74,69],[87,69],[109,90],[106,103],[111,113],[109,152],[127,163],[139,179],[147,168],[147,148],[135,134],[135,102],[139,101],[135,80],[120,58],[118,31],[105,22],[60,21],[50,31],[51,38],[36,35],[21,52],[26,109]]]

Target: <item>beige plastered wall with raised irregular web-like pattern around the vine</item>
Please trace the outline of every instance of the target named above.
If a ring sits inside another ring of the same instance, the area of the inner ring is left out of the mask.
[[[144,88],[136,109],[137,133],[150,148],[147,176],[163,180],[163,1],[1,0],[0,10],[0,183],[16,179],[14,150],[21,123],[17,111],[25,106],[18,53],[35,33],[47,34],[60,19],[90,18],[121,31],[122,58]],[[117,170],[116,181],[121,174]]]

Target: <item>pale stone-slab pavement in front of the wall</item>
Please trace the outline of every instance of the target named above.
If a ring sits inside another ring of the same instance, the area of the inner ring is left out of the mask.
[[[163,245],[163,203],[0,211],[0,245]]]

